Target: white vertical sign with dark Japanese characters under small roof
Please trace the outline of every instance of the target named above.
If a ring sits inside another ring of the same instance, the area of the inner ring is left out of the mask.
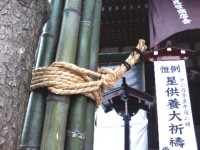
[[[155,61],[160,150],[197,150],[185,62]]]

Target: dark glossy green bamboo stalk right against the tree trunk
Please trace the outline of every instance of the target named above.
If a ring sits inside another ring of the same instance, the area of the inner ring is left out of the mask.
[[[51,0],[50,4],[52,12],[43,30],[35,66],[36,68],[49,66],[55,60],[61,25],[63,0]],[[45,89],[37,89],[30,93],[22,131],[21,150],[40,149],[46,96],[47,90]]]

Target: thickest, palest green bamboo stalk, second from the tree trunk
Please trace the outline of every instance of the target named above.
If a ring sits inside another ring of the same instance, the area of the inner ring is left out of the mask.
[[[80,24],[81,0],[66,0],[56,61],[75,62]],[[41,150],[63,150],[69,96],[48,94]]]

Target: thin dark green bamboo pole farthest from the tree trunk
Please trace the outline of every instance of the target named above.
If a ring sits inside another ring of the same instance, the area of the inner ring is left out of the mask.
[[[93,17],[92,41],[90,52],[90,70],[96,71],[99,54],[99,37],[101,23],[101,0],[96,0],[95,12]],[[85,122],[85,139],[84,150],[93,150],[94,144],[94,116],[96,104],[93,100],[88,99],[86,104],[86,122]]]

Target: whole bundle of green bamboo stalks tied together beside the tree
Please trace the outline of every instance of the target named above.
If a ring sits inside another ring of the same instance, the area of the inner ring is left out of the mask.
[[[57,61],[96,71],[101,0],[50,2],[52,14],[43,33],[36,68]],[[127,68],[122,65],[122,69]],[[32,91],[21,149],[92,150],[95,106],[95,101],[80,94],[62,96],[45,89]]]

